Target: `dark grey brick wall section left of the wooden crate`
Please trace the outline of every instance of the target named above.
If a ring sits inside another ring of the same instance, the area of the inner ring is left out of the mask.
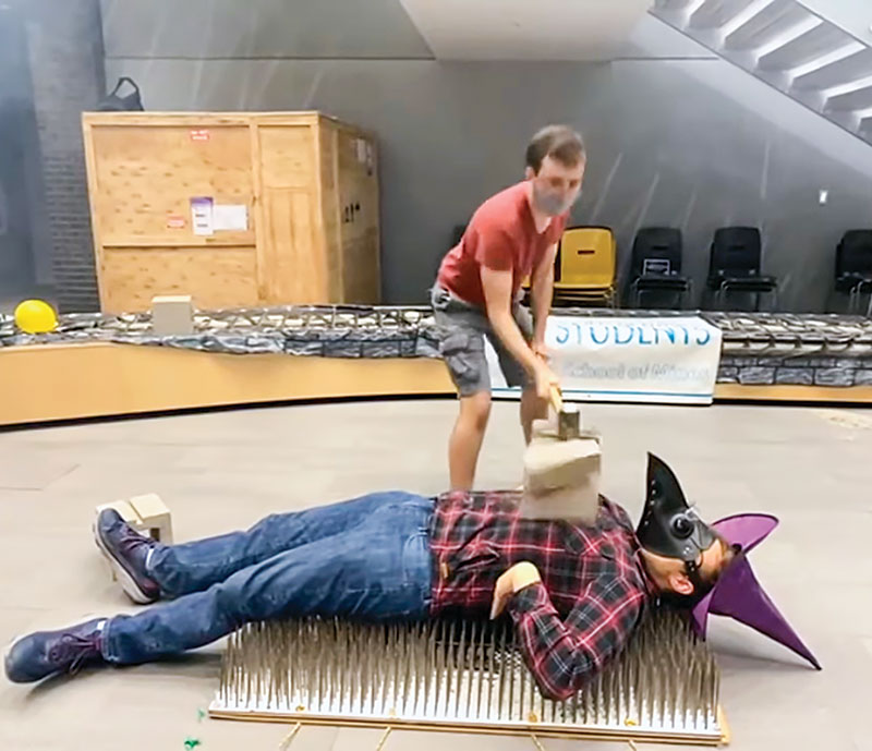
[[[106,90],[99,0],[17,4],[27,28],[58,304],[97,310],[81,117]]]

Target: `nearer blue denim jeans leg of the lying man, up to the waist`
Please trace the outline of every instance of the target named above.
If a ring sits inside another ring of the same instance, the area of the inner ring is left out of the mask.
[[[279,553],[205,592],[110,619],[104,656],[119,664],[158,659],[208,644],[253,620],[426,618],[433,501],[416,496],[397,501],[347,532]]]

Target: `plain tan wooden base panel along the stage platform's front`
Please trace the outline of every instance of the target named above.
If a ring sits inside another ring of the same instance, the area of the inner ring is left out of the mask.
[[[426,358],[344,360],[217,354],[129,344],[0,349],[0,425],[232,404],[383,396],[453,396]],[[872,386],[720,384],[716,400],[872,403]]]

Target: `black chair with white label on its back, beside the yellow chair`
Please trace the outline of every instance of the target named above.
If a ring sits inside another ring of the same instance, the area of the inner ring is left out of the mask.
[[[681,230],[641,229],[633,241],[630,268],[631,305],[639,307],[645,292],[670,292],[679,307],[690,296],[691,282],[681,276]]]

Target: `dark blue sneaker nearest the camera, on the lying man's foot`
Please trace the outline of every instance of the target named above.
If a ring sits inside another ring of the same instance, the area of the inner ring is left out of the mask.
[[[74,674],[83,665],[102,662],[105,618],[60,631],[37,631],[16,639],[3,664],[13,683],[33,683],[57,673]]]

